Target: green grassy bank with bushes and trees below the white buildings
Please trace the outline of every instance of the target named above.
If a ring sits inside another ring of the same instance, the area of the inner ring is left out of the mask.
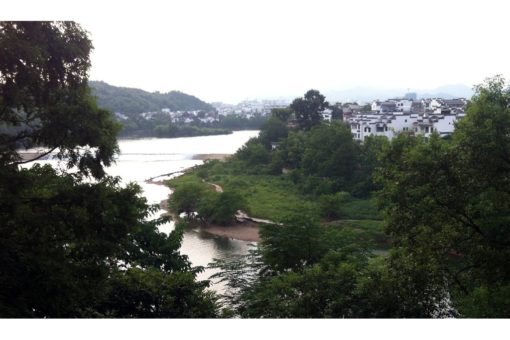
[[[270,141],[278,139],[279,149],[270,151]],[[376,188],[371,180],[378,165],[375,154],[386,142],[383,138],[369,137],[364,145],[359,145],[340,121],[302,132],[288,128],[273,116],[261,126],[258,137],[251,138],[225,162],[211,160],[168,181],[175,188],[170,207],[180,213],[195,211],[200,217],[220,223],[204,215],[202,207],[209,205],[215,196],[236,195],[232,213],[221,221],[228,223],[237,210],[272,220],[297,206],[308,206],[324,222],[365,229],[377,241],[386,241],[382,216],[370,199]],[[296,161],[303,157],[303,161]],[[343,169],[339,169],[340,164],[323,169],[324,164],[334,164],[335,159],[343,160]],[[311,164],[323,169],[320,177]],[[290,171],[284,174],[283,169]],[[216,193],[206,182],[220,185],[223,193]]]

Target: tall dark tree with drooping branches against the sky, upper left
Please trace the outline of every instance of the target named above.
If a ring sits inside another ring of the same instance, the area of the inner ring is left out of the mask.
[[[0,22],[0,159],[23,164],[19,147],[58,149],[68,167],[99,178],[118,152],[120,124],[87,85],[92,44],[73,22]]]

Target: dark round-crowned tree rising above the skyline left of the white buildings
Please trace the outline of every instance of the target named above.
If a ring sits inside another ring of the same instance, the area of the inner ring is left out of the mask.
[[[325,99],[318,90],[312,89],[304,94],[304,98],[298,97],[292,101],[290,108],[303,130],[308,131],[322,122],[321,113],[329,107],[329,102]]]

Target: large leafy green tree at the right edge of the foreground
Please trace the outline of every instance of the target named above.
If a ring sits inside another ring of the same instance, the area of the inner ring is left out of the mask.
[[[475,89],[451,141],[438,135],[391,141],[381,153],[377,200],[396,246],[448,277],[445,289],[451,287],[461,316],[506,317],[510,90],[500,76]],[[462,254],[460,268],[449,266],[448,251]]]

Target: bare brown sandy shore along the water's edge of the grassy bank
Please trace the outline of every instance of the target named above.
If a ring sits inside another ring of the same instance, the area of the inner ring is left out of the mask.
[[[217,155],[218,157],[221,156],[222,158],[224,156],[228,156],[228,154],[220,154],[220,153],[209,154],[209,156],[210,155]],[[203,155],[203,156],[205,156],[205,155]],[[213,158],[209,157],[206,159],[213,159]],[[215,159],[220,159],[220,158],[215,158]],[[190,169],[185,169],[182,172],[186,172],[187,170],[190,170]],[[172,190],[172,192],[174,190],[174,188],[167,186],[164,180],[154,181],[154,178],[150,178],[150,179],[146,180],[146,182],[148,184],[165,186],[168,189]],[[164,210],[166,212],[166,213],[162,214],[161,216],[170,216],[170,217],[172,217],[173,220],[177,220],[179,217],[175,216],[175,214],[172,213],[170,211],[170,209],[168,208],[168,199],[170,199],[170,197],[171,197],[171,194],[168,195],[167,199],[162,200],[160,203],[161,210]],[[221,226],[221,225],[213,223],[213,224],[202,225],[201,228],[204,231],[207,231],[207,232],[209,232],[213,235],[216,235],[216,236],[221,236],[221,237],[226,237],[226,238],[241,240],[241,241],[247,241],[247,242],[261,242],[262,239],[259,236],[259,223],[255,222],[255,221],[248,220],[248,219],[241,219],[241,220],[243,220],[243,221],[242,222],[237,221],[237,222],[235,222],[235,224],[232,224],[229,226]]]

